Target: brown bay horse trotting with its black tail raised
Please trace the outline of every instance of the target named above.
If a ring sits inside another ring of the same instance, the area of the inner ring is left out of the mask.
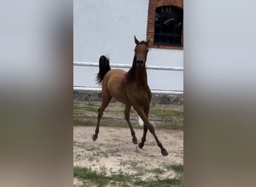
[[[97,127],[93,140],[96,141],[99,133],[100,119],[103,115],[103,111],[109,105],[112,96],[119,102],[125,104],[125,119],[129,125],[129,129],[132,134],[133,144],[138,144],[135,132],[132,129],[132,125],[129,121],[129,112],[131,107],[135,109],[138,116],[144,121],[144,132],[141,138],[141,143],[138,147],[141,149],[144,147],[146,141],[147,129],[152,133],[156,139],[156,144],[160,147],[162,156],[168,156],[167,150],[162,146],[162,143],[156,136],[153,125],[148,120],[148,113],[150,111],[150,99],[151,92],[147,85],[147,71],[146,61],[148,52],[148,43],[150,40],[139,42],[134,36],[135,40],[135,55],[132,62],[132,67],[128,72],[124,70],[111,70],[109,66],[109,59],[106,56],[101,56],[99,61],[99,73],[97,73],[97,83],[102,84],[102,104],[98,110]]]

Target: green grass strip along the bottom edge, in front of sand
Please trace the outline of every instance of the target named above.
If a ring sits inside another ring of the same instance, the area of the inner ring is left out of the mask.
[[[155,187],[155,186],[183,186],[183,165],[168,165],[168,169],[174,169],[177,172],[177,177],[160,179],[157,177],[159,174],[163,174],[160,168],[153,169],[153,173],[156,177],[152,177],[147,180],[141,180],[138,175],[125,174],[124,171],[118,171],[118,173],[112,173],[106,176],[106,168],[101,167],[101,171],[93,171],[91,168],[73,168],[73,176],[83,180],[84,185],[91,186],[145,186],[145,187]]]

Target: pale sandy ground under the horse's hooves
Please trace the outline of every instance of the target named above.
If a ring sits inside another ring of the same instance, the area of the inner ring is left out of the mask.
[[[126,174],[136,174],[145,171],[142,180],[151,177],[154,168],[165,169],[166,165],[183,165],[183,131],[156,129],[156,135],[168,151],[168,156],[162,156],[156,141],[150,132],[143,149],[132,144],[129,128],[100,127],[97,141],[92,140],[94,126],[73,127],[73,165],[86,166],[94,171],[106,171],[112,174],[124,171]],[[138,142],[141,140],[143,129],[134,129]],[[173,171],[168,171],[160,177],[174,177]],[[74,186],[81,182],[73,180]]]

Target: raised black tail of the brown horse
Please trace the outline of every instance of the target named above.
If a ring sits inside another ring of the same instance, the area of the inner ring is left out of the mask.
[[[109,66],[109,58],[106,58],[106,56],[102,55],[99,60],[99,73],[97,74],[96,81],[100,85],[101,82],[103,82],[103,78],[110,70]]]

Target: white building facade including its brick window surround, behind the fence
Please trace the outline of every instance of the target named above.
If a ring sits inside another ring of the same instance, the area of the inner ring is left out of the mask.
[[[150,39],[147,65],[183,67],[183,1],[74,0],[74,61],[132,64],[134,36]],[[74,67],[73,85],[96,87],[97,67]],[[183,72],[147,70],[151,89],[183,91]]]

